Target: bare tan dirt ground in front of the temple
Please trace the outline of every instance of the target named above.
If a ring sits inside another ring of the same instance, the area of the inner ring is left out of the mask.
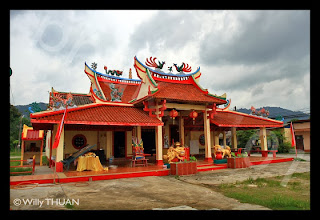
[[[189,176],[140,177],[87,184],[39,185],[32,189],[11,189],[12,210],[267,210],[240,203],[213,191],[210,185],[235,183],[249,177],[272,177],[310,171],[309,161],[251,166],[200,172]],[[283,178],[283,183],[288,177]],[[41,186],[41,187],[40,187]],[[27,200],[28,199],[28,200]],[[72,200],[78,202],[65,206]],[[60,204],[59,204],[60,203]]]

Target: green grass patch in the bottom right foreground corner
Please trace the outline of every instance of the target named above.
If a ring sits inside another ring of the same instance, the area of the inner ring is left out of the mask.
[[[286,185],[284,176],[248,178],[236,184],[222,184],[219,191],[240,202],[258,204],[274,210],[310,210],[310,172],[294,173]]]

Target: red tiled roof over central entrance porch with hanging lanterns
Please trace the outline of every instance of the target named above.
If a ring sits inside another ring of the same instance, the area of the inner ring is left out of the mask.
[[[193,84],[172,83],[157,81],[159,91],[154,93],[152,97],[165,98],[167,100],[176,100],[184,102],[208,102],[225,104],[226,101],[201,92]]]

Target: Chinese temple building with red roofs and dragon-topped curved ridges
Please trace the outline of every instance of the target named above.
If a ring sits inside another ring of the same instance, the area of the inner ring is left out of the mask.
[[[261,148],[267,149],[266,128],[282,127],[281,121],[248,115],[228,109],[226,94],[215,95],[199,85],[200,67],[174,64],[163,72],[164,62],[147,59],[145,64],[134,57],[139,79],[122,78],[122,72],[96,71],[95,63],[85,64],[84,72],[91,85],[88,94],[58,92],[52,88],[49,109],[30,115],[34,129],[47,130],[50,159],[55,158],[57,171],[61,160],[86,146],[96,144],[106,158],[131,158],[132,137],[143,140],[145,153],[155,155],[157,165],[172,141],[189,146],[191,154],[204,154],[212,161],[211,148],[219,144],[222,133],[232,132],[231,146],[237,148],[237,129],[260,129]],[[67,107],[61,138],[52,149],[58,124]],[[196,152],[196,153],[195,153]]]

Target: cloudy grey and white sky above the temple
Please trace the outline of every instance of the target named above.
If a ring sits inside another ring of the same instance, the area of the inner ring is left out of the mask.
[[[84,63],[124,71],[133,58],[200,66],[231,107],[310,109],[310,12],[10,11],[10,102],[48,102],[51,87],[88,93]],[[137,78],[135,73],[134,78]]]

